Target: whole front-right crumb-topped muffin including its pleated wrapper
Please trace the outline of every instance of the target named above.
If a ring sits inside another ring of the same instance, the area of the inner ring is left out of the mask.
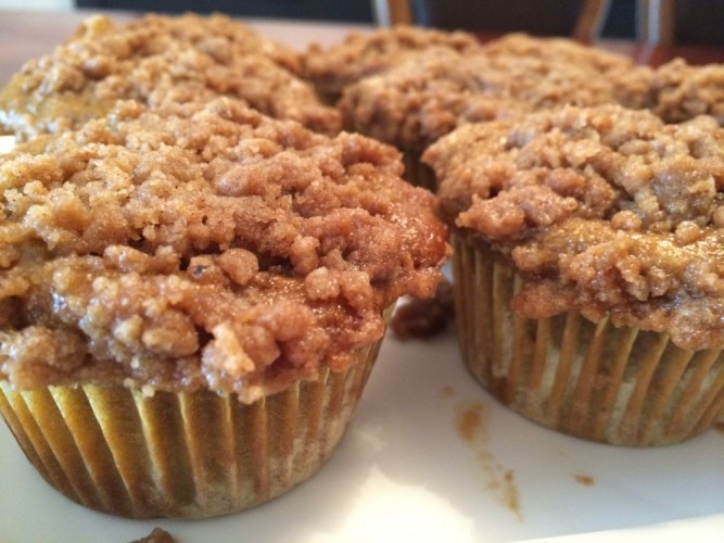
[[[620,105],[470,124],[423,155],[462,357],[503,404],[661,445],[724,409],[724,129]]]

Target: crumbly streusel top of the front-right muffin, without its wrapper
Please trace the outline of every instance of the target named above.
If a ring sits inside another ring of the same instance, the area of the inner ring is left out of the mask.
[[[524,278],[513,310],[580,311],[724,345],[724,129],[568,106],[458,128],[423,161],[441,216]]]

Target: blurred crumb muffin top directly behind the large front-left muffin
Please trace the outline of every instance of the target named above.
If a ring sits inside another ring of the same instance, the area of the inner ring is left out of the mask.
[[[94,16],[0,91],[0,130],[25,140],[77,128],[118,99],[155,106],[232,96],[335,134],[339,113],[294,74],[299,67],[291,50],[221,15],[148,15],[125,25]]]

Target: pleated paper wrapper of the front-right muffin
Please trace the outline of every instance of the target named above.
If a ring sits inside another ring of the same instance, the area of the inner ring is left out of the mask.
[[[515,315],[512,267],[454,236],[455,304],[463,361],[503,404],[593,441],[661,445],[724,416],[721,350],[685,351],[666,334],[592,323],[577,313]]]

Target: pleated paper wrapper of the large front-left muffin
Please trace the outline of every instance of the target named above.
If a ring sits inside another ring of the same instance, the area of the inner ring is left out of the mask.
[[[199,518],[267,502],[315,473],[344,434],[380,343],[347,370],[245,405],[208,391],[51,387],[15,392],[0,411],[30,463],[92,509]]]

